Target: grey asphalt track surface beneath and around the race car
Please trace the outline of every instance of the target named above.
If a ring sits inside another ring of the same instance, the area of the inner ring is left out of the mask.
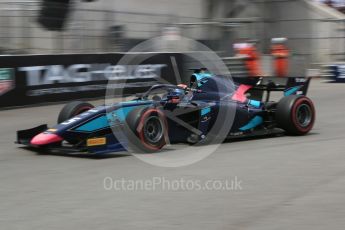
[[[344,229],[345,84],[313,81],[312,133],[222,144],[186,167],[134,156],[36,154],[15,131],[54,124],[62,105],[0,111],[0,229]],[[240,188],[106,190],[126,180],[237,180]]]

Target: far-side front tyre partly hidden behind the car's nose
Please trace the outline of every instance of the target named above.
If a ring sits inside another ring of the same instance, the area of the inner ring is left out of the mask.
[[[94,108],[94,106],[90,103],[84,101],[72,101],[62,108],[57,122],[60,124],[61,122],[67,121],[68,119],[71,119],[72,117],[75,117],[92,108]]]

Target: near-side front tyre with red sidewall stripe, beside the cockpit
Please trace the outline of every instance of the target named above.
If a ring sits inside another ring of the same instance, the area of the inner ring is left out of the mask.
[[[127,137],[130,147],[134,150],[157,152],[166,145],[168,125],[160,110],[156,108],[134,109],[128,114],[126,122],[129,128]]]

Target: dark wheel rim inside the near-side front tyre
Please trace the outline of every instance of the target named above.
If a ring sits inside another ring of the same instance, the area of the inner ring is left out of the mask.
[[[159,117],[151,116],[144,125],[144,137],[150,143],[158,143],[163,136],[163,125]]]

